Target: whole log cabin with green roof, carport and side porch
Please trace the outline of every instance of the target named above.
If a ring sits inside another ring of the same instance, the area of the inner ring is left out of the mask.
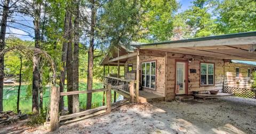
[[[123,83],[117,82],[113,86],[134,81],[136,98],[140,102],[155,98],[170,101],[200,91],[222,92],[224,87],[250,89],[252,72],[256,69],[256,31],[135,43],[131,48],[118,45],[117,49],[117,52],[107,54],[100,65],[118,66],[115,77]],[[124,68],[123,78],[119,74],[121,67]],[[105,76],[108,79],[115,77]],[[122,92],[122,89],[115,91],[121,91],[124,96],[130,93],[129,90]]]

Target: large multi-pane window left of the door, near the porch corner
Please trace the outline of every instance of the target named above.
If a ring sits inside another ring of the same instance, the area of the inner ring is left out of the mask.
[[[141,63],[141,85],[142,87],[155,89],[156,87],[156,62]]]

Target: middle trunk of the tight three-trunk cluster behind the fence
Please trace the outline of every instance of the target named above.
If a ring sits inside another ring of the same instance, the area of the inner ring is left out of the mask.
[[[67,91],[73,91],[73,29],[72,29],[72,13],[69,18],[69,40],[67,53]],[[68,112],[73,113],[73,95],[68,95]]]

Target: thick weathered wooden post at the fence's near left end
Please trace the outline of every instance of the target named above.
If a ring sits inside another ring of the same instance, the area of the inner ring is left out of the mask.
[[[50,131],[55,131],[59,128],[59,102],[60,89],[53,86],[51,90]]]

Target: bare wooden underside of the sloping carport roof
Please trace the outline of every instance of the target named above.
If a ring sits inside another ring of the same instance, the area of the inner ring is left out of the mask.
[[[140,49],[256,61],[256,32],[136,45]]]

